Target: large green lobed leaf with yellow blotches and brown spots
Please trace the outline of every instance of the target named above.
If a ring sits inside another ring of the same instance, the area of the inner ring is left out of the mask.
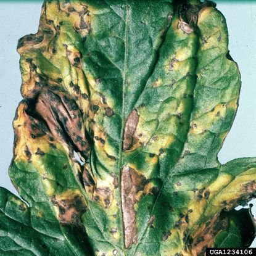
[[[0,255],[204,255],[249,246],[256,158],[222,165],[241,80],[211,1],[45,1]],[[79,158],[79,159],[78,159]]]

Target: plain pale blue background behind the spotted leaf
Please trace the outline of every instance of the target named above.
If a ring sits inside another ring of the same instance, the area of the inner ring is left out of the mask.
[[[230,53],[242,76],[237,116],[219,154],[220,162],[225,163],[256,156],[256,2],[215,2],[226,17]],[[40,1],[0,2],[0,186],[15,194],[7,170],[12,159],[12,119],[22,99],[16,46],[22,36],[36,33],[40,12]],[[256,215],[256,206],[253,212]],[[252,246],[256,247],[256,241]]]

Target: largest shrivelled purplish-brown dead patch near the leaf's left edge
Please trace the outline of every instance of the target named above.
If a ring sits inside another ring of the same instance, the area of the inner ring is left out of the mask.
[[[31,134],[35,134],[38,123],[44,123],[41,130],[46,130],[53,137],[64,141],[75,151],[89,151],[80,109],[75,100],[67,94],[42,89],[36,99],[28,102],[27,114],[33,117],[35,123],[30,125]]]

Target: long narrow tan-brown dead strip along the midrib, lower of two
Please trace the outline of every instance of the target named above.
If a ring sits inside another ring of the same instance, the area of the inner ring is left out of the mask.
[[[137,243],[136,212],[134,204],[137,193],[144,189],[146,178],[131,167],[123,167],[121,174],[123,226],[125,229],[125,247]]]

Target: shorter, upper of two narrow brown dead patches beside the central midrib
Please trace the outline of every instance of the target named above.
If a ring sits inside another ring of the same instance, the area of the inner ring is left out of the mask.
[[[125,125],[125,133],[123,136],[123,151],[128,151],[138,141],[138,138],[134,136],[137,125],[139,122],[139,115],[136,109],[131,111],[127,118]]]

